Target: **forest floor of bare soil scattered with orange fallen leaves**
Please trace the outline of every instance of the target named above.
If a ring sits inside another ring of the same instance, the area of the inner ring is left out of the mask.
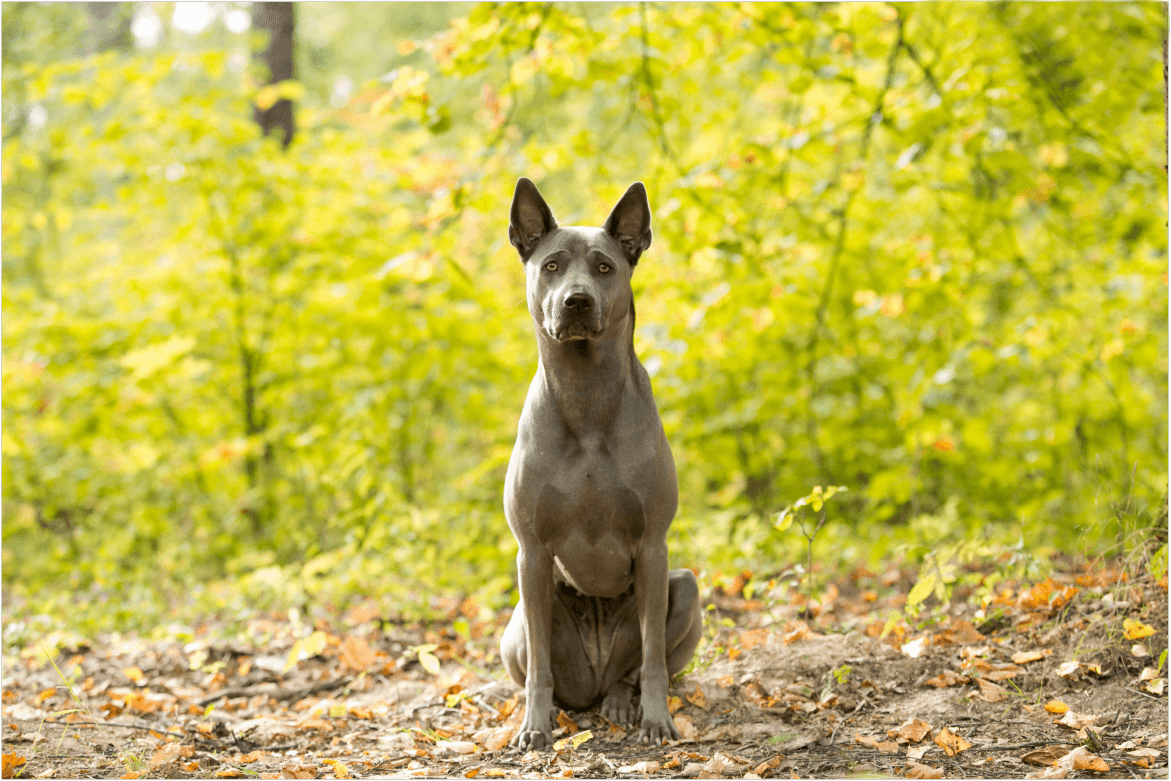
[[[509,611],[470,601],[429,625],[358,605],[57,642],[53,664],[13,649],[4,775],[1166,777],[1166,577],[1061,569],[918,619],[890,619],[912,585],[897,569],[833,580],[812,616],[783,585],[710,585],[671,692],[683,740],[662,746],[595,708],[562,712],[553,749],[509,747]]]

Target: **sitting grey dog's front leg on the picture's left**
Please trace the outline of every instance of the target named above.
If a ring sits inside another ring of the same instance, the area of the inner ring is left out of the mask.
[[[513,738],[522,749],[553,744],[553,556],[543,547],[516,554],[520,609],[525,611],[525,722]]]

